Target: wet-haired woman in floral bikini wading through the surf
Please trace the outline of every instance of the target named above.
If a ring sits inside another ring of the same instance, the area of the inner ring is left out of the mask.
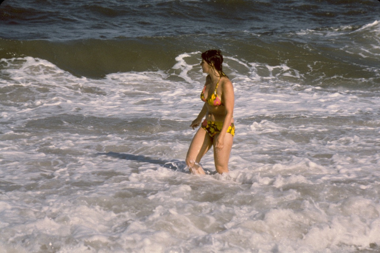
[[[215,169],[222,174],[228,172],[228,159],[235,134],[233,120],[234,89],[222,70],[223,56],[220,50],[202,53],[202,70],[207,73],[206,83],[201,92],[203,108],[190,127],[201,127],[187,151],[186,164],[193,174],[205,174],[199,165],[201,158],[213,146]]]

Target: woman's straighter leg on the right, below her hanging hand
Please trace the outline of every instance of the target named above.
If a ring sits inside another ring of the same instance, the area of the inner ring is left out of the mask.
[[[217,136],[214,137],[214,140],[216,140],[216,137]],[[227,133],[224,139],[224,145],[222,149],[215,148],[214,143],[215,169],[220,174],[228,172],[228,160],[230,159],[233,138],[234,137],[230,133]]]

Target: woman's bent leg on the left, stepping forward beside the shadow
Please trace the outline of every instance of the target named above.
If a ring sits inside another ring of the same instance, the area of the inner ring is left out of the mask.
[[[193,174],[206,174],[201,166],[197,165],[204,154],[211,148],[212,138],[206,130],[199,127],[194,135],[186,155],[186,165]]]

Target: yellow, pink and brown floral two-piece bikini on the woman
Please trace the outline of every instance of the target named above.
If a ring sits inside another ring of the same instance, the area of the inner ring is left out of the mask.
[[[219,81],[220,81],[220,79],[219,79]],[[212,105],[212,106],[223,105],[222,101],[220,100],[220,98],[218,96],[218,94],[216,93],[219,81],[218,81],[218,83],[215,86],[214,93],[212,93],[211,96],[209,96],[208,99],[206,99],[204,97],[204,91],[206,90],[206,85],[204,85],[204,88],[203,88],[203,90],[201,92],[201,99],[202,99],[203,102],[207,102],[209,105]],[[211,121],[211,120],[205,119],[203,121],[203,123],[202,123],[202,128],[204,130],[206,130],[206,132],[211,137],[214,137],[216,134],[220,133],[220,131],[222,130],[222,127],[223,127],[223,122],[222,121],[219,122],[219,121]],[[235,125],[234,125],[234,123],[231,123],[230,126],[228,126],[227,133],[230,133],[232,136],[235,135]]]

